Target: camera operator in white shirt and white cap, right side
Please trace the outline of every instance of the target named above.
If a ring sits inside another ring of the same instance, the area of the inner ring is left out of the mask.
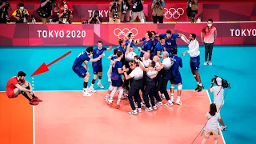
[[[216,86],[214,86],[216,84]],[[214,93],[214,103],[217,107],[217,112],[220,114],[220,109],[224,105],[224,88],[222,87],[222,78],[216,78],[210,85],[210,92]],[[223,125],[221,126],[222,130],[226,130],[226,126],[224,122],[221,122]]]

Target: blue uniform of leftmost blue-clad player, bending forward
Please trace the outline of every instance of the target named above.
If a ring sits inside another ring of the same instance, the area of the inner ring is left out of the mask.
[[[78,74],[80,78],[86,77],[86,68],[82,66],[82,63],[85,61],[90,61],[90,57],[86,53],[86,51],[82,51],[80,54],[78,54],[78,57],[75,58],[74,64],[72,66],[72,69],[75,74]]]

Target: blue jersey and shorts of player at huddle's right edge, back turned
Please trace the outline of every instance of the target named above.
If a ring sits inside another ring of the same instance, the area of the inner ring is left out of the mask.
[[[182,58],[178,57],[177,55],[170,54],[170,59],[174,62],[174,64],[171,66],[171,74],[172,79],[171,83],[174,83],[175,85],[178,85],[179,83],[182,84],[182,75],[179,72],[179,67],[182,68]]]

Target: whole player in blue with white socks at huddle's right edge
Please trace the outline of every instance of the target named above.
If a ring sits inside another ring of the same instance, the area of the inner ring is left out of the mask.
[[[178,68],[182,68],[182,58],[178,57],[177,49],[174,48],[170,54],[170,59],[174,62],[174,64],[171,66],[171,86],[170,86],[170,100],[171,102],[174,102],[174,86],[178,85],[178,98],[175,103],[182,105],[181,102],[181,94],[182,94],[182,76],[179,72]]]

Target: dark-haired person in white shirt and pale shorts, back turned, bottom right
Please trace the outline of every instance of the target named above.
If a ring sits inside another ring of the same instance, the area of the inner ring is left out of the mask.
[[[210,111],[206,113],[206,118],[208,119],[206,123],[205,138],[202,139],[202,144],[205,144],[210,137],[214,135],[214,144],[218,143],[218,122],[222,121],[220,114],[217,112],[216,105],[214,103],[210,104]]]

